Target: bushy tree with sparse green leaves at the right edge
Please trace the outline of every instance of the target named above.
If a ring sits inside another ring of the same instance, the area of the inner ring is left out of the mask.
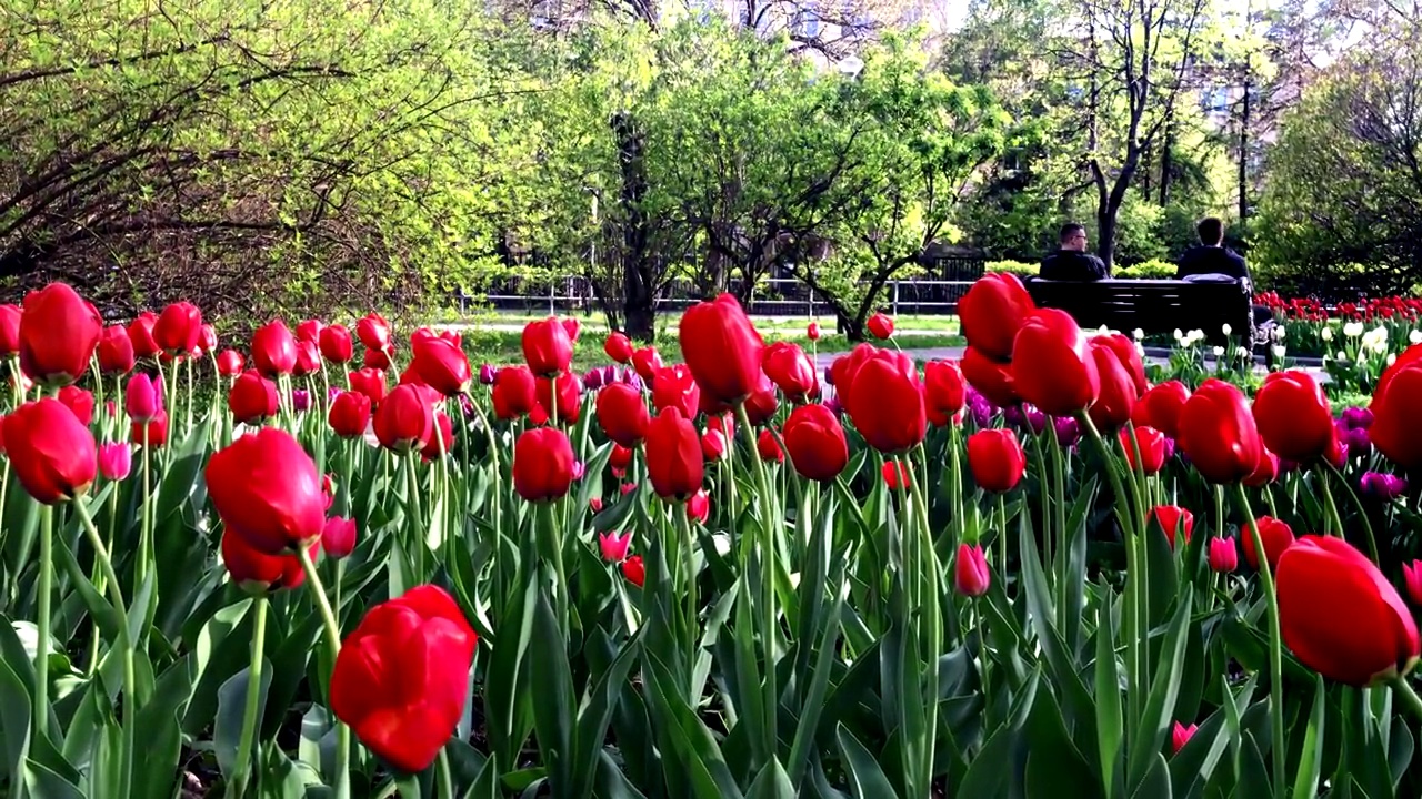
[[[1341,296],[1422,284],[1419,28],[1416,16],[1371,17],[1284,118],[1258,226],[1281,286]]]

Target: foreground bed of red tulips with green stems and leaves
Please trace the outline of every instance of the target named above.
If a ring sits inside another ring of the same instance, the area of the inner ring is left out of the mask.
[[[0,307],[0,792],[1419,795],[1422,347],[1335,414],[960,316],[820,375],[722,297],[574,375],[572,320]]]

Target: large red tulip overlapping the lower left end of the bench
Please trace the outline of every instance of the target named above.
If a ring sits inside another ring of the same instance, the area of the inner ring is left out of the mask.
[[[1071,417],[1096,401],[1096,360],[1066,311],[1042,309],[1022,323],[1012,344],[1012,385],[1049,417]]]

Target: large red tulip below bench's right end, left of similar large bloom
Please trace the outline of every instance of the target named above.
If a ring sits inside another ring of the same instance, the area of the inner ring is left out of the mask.
[[[1231,483],[1258,466],[1260,441],[1244,394],[1223,380],[1206,380],[1180,411],[1180,449],[1204,479]]]

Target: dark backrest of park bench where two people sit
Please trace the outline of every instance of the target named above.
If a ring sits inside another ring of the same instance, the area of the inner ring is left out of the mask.
[[[1231,336],[1251,336],[1254,314],[1249,287],[1240,283],[1186,283],[1183,280],[1027,280],[1027,293],[1041,309],[1059,309],[1084,328],[1109,327],[1126,334],[1200,330],[1223,343],[1223,326]],[[1246,338],[1247,341],[1249,338]]]

